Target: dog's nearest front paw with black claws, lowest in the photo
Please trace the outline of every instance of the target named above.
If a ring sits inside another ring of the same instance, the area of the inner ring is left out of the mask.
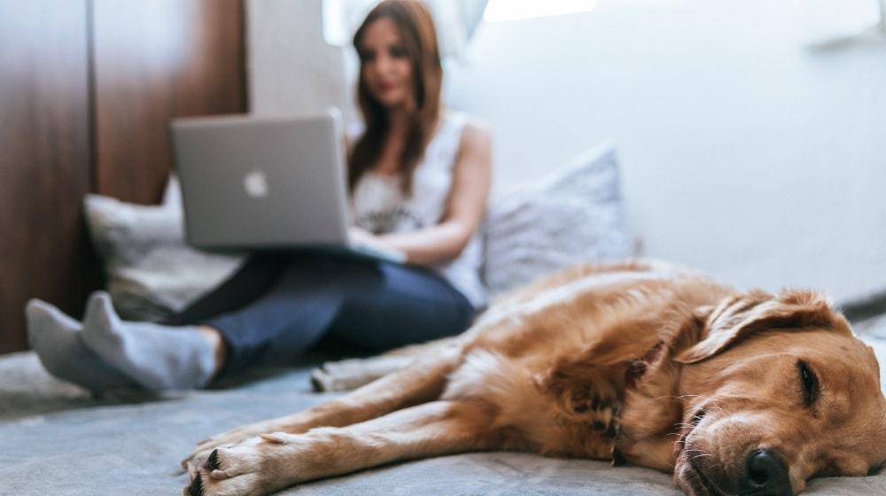
[[[291,438],[285,433],[262,434],[215,448],[192,472],[185,496],[260,496],[292,484],[288,464],[281,463],[291,454]]]

